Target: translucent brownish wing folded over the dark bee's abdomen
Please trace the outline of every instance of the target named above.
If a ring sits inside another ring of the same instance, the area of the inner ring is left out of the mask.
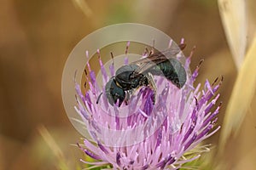
[[[136,72],[138,74],[142,74],[143,72],[148,71],[148,69],[152,68],[153,66],[158,65],[168,59],[171,59],[171,58],[176,59],[176,55],[179,52],[180,52],[179,48],[177,50],[168,48],[163,52],[150,54],[148,57],[134,61],[131,64],[138,65]]]

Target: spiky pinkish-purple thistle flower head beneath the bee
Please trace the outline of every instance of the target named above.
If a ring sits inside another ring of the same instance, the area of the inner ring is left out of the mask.
[[[86,54],[88,56],[88,52]],[[206,81],[202,90],[201,84],[194,88],[200,67],[189,74],[192,54],[183,63],[188,75],[183,88],[177,88],[165,77],[155,76],[155,92],[141,87],[127,104],[119,107],[110,105],[106,97],[104,85],[110,77],[98,51],[103,87],[98,85],[89,63],[89,76],[86,76],[89,90],[83,94],[76,83],[78,105],[75,109],[91,137],[78,146],[95,159],[94,162],[81,161],[95,167],[109,165],[113,169],[178,169],[200,157],[206,150],[198,144],[219,129],[215,123],[220,105],[211,111],[222,81],[212,84]],[[145,53],[144,57],[147,56]],[[109,71],[113,77],[113,65]]]

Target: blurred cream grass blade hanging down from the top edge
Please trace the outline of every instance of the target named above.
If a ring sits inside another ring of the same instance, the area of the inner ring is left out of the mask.
[[[236,67],[240,69],[247,46],[246,2],[244,0],[218,0],[218,7],[231,54]]]

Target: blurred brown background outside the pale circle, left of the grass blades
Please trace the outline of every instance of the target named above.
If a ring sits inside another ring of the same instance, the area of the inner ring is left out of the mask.
[[[74,2],[84,1],[0,1],[0,169],[57,168],[55,155],[38,133],[40,125],[54,136],[70,158],[68,163],[79,164],[82,154],[69,144],[75,144],[80,136],[61,101],[62,69],[77,42],[114,23],[154,26],[177,42],[184,37],[187,55],[195,45],[191,70],[205,59],[197,82],[224,76],[219,91],[219,101],[224,104],[218,124],[222,123],[236,68],[217,2],[90,0],[86,1],[89,9],[82,6],[84,11]],[[217,144],[218,136],[209,139],[211,143]]]

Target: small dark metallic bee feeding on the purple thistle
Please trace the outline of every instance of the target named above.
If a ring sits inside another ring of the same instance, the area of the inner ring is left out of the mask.
[[[129,100],[132,92],[143,86],[150,86],[156,93],[153,76],[166,77],[177,88],[183,88],[187,73],[176,55],[183,49],[168,48],[164,52],[150,53],[148,57],[138,59],[129,65],[123,65],[115,72],[105,86],[105,94],[111,105],[122,105]],[[117,104],[118,103],[118,104]]]

